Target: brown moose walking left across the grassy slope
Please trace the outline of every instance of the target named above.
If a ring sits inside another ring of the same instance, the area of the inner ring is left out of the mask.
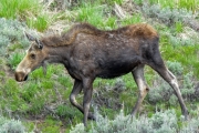
[[[77,23],[61,35],[36,39],[25,33],[31,45],[27,55],[15,69],[15,80],[25,81],[30,72],[48,63],[61,63],[74,79],[70,102],[87,119],[95,116],[90,112],[93,82],[96,78],[112,79],[132,72],[139,89],[133,108],[135,116],[149,86],[144,78],[144,66],[149,65],[174,89],[185,119],[188,110],[181,96],[176,76],[166,68],[159,51],[159,35],[147,23],[129,24],[116,30],[100,30],[88,23]],[[83,105],[75,96],[83,91]]]

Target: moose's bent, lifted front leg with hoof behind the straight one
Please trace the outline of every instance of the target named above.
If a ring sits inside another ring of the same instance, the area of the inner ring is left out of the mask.
[[[83,114],[84,114],[84,110],[83,106],[81,106],[77,102],[76,102],[76,95],[82,91],[83,88],[83,83],[82,81],[75,80],[74,85],[73,85],[73,90],[71,92],[70,95],[70,101],[71,104],[74,105],[75,108],[77,108]],[[88,113],[87,119],[90,120],[95,120],[95,116],[92,113]]]

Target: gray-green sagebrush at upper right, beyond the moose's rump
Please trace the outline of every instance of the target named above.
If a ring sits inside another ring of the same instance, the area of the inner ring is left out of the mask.
[[[193,45],[198,43],[198,33],[191,28],[184,27],[184,24],[189,25],[192,21],[197,21],[197,13],[192,14],[192,12],[187,9],[163,8],[160,4],[150,6],[147,2],[143,4],[142,10],[147,17],[174,27],[172,30],[169,29],[166,32],[160,30],[161,37],[168,37],[168,42],[174,47]]]

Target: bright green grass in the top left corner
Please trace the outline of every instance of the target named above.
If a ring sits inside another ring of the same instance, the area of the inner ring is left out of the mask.
[[[52,22],[52,16],[44,12],[39,0],[1,0],[0,17],[24,20],[30,28],[44,31]]]

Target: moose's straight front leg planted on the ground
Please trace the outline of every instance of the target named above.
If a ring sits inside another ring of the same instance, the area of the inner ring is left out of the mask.
[[[83,91],[84,91],[84,98],[83,98],[83,111],[84,111],[84,126],[87,125],[87,116],[90,111],[90,104],[92,100],[92,93],[93,93],[93,81],[92,79],[84,79],[83,80]]]

